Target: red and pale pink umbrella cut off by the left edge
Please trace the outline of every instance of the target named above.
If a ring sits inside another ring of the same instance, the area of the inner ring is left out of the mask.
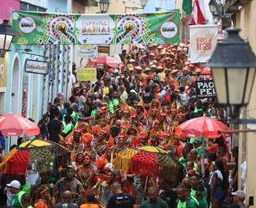
[[[34,122],[14,114],[0,116],[0,130],[4,136],[19,136],[23,131],[28,136],[40,134],[40,129]]]

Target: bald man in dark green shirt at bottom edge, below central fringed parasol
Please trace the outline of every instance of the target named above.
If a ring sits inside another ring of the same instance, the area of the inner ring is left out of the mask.
[[[163,201],[161,198],[158,198],[158,190],[156,187],[149,187],[148,199],[145,202],[142,202],[140,208],[169,208],[167,202]]]

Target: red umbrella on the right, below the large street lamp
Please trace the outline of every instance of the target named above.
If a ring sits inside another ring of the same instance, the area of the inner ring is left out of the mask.
[[[224,123],[209,117],[193,118],[175,128],[178,136],[198,138],[201,134],[204,138],[218,138],[219,131],[230,130]]]

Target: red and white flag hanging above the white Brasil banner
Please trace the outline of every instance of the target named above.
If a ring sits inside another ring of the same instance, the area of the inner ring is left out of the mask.
[[[206,10],[204,0],[194,0],[194,24],[200,25],[206,21]]]

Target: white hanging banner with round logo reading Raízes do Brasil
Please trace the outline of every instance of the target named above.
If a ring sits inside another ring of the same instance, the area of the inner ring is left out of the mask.
[[[190,61],[203,63],[210,59],[217,44],[218,26],[190,26]]]

